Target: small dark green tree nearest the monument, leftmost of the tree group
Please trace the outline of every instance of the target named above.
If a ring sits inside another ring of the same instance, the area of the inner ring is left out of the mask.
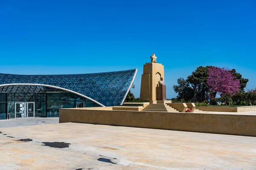
[[[190,87],[189,82],[184,78],[180,77],[177,79],[178,85],[173,85],[175,93],[177,93],[177,100],[183,100],[187,102],[192,99],[193,89]]]

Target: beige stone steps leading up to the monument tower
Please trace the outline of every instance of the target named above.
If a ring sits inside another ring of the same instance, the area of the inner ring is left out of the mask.
[[[142,111],[149,112],[179,112],[166,104],[149,104]]]

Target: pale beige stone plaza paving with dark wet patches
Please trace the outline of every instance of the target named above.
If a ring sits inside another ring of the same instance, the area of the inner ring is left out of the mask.
[[[256,137],[80,123],[0,131],[0,170],[256,170]]]

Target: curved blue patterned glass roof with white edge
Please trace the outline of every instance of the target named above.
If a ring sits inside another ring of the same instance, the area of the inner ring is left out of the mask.
[[[0,92],[20,93],[20,86],[27,93],[57,88],[84,96],[102,106],[122,105],[136,74],[137,69],[94,74],[0,74]]]

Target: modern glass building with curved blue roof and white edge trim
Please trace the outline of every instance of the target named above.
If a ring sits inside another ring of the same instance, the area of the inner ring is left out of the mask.
[[[0,74],[0,119],[58,117],[59,108],[122,105],[137,69],[94,74]]]

